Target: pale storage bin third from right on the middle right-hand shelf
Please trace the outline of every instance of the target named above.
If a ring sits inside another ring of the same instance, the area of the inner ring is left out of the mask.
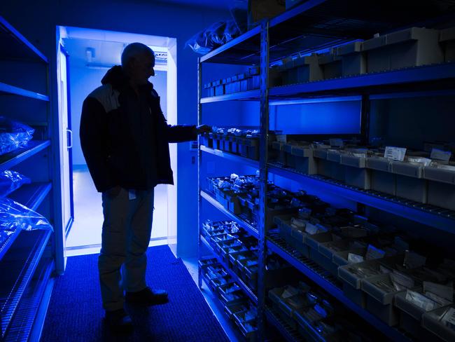
[[[396,195],[396,176],[391,173],[391,161],[380,156],[367,158],[367,168],[371,170],[372,190]]]

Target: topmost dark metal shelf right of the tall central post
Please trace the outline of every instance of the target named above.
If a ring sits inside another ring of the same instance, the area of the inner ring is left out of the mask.
[[[453,1],[309,0],[269,21],[270,61],[312,53],[353,39],[369,39],[412,25],[431,27],[449,19]],[[405,16],[400,13],[406,13]]]

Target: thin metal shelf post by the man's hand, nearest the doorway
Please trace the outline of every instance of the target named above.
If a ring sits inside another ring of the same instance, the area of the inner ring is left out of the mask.
[[[202,124],[202,63],[200,57],[197,58],[197,125]],[[201,197],[201,139],[197,136],[197,260],[201,259],[201,212],[202,212],[202,197]],[[202,288],[202,277],[199,266],[197,267],[197,285]]]

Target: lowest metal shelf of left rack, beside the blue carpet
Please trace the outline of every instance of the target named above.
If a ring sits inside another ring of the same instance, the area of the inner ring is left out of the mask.
[[[20,300],[18,310],[6,332],[5,342],[29,341],[31,329],[48,285],[50,275],[55,268],[52,259],[42,259],[27,290]],[[33,339],[31,339],[33,341]]]

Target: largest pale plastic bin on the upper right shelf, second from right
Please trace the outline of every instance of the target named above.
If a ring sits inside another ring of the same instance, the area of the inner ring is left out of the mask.
[[[439,31],[412,27],[363,42],[367,72],[389,71],[444,62]]]

